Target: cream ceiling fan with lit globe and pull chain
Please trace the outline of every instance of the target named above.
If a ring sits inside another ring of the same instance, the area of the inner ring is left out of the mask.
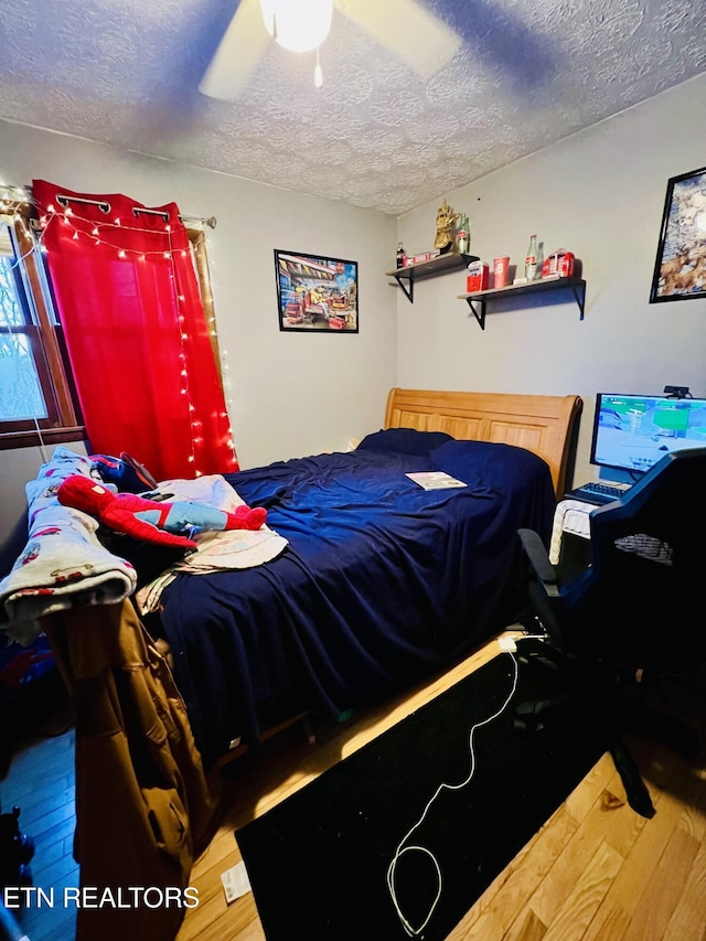
[[[282,17],[285,9],[289,12],[297,10],[299,6],[299,20],[306,21],[306,9],[312,6],[312,0],[285,2]],[[277,6],[274,0],[240,0],[199,85],[203,95],[226,101],[235,100],[255,71],[268,43],[275,39],[286,45],[278,35],[278,14],[272,14],[272,9]],[[461,46],[461,38],[430,13],[419,0],[317,0],[313,6],[329,8],[329,24],[331,7],[335,7],[422,78],[438,72]],[[325,13],[323,15],[325,17]],[[328,25],[322,39],[327,34]],[[314,41],[307,47],[318,50],[319,42]],[[320,77],[318,66],[317,84],[321,84]]]

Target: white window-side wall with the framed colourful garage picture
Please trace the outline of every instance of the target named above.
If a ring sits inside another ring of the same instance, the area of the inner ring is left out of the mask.
[[[383,276],[394,264],[394,218],[0,121],[0,182],[32,179],[216,216],[207,250],[240,467],[342,450],[382,427],[396,381],[396,295]],[[275,248],[357,261],[357,334],[279,330]],[[24,482],[41,462],[36,448],[0,451],[0,574],[3,544],[24,517]]]

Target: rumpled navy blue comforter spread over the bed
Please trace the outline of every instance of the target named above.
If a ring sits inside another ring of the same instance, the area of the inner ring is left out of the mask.
[[[441,470],[467,488],[426,491]],[[516,530],[548,541],[549,469],[507,445],[391,429],[351,453],[231,474],[289,539],[252,569],[180,575],[163,596],[175,677],[204,761],[303,712],[336,717],[403,688],[511,622]]]

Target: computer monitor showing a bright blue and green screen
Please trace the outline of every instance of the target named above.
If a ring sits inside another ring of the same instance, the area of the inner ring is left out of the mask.
[[[592,464],[644,473],[667,451],[706,446],[706,399],[599,393]]]

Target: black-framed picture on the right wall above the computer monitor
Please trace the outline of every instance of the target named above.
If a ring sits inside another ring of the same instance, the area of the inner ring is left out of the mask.
[[[706,167],[667,181],[650,303],[706,297]]]

